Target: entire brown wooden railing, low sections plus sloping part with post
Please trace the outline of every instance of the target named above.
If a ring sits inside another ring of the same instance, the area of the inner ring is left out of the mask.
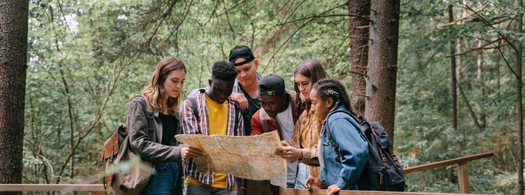
[[[470,193],[468,182],[467,163],[472,160],[494,156],[494,153],[482,153],[449,160],[438,161],[415,167],[403,169],[405,174],[435,169],[450,165],[458,166],[458,179],[460,193]],[[94,184],[0,184],[0,191],[84,191],[91,194],[105,194],[103,185]],[[280,195],[324,195],[326,190],[312,189],[280,189]],[[426,193],[426,192],[379,192],[379,191],[347,191],[339,192],[339,195],[451,195],[452,193]],[[457,195],[457,194],[456,194]]]

